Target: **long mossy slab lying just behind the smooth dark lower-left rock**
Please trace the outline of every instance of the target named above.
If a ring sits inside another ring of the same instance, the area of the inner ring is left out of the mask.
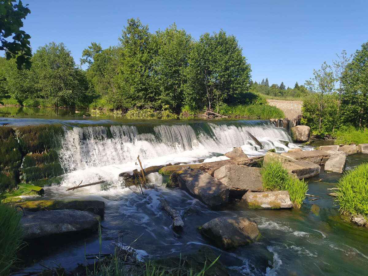
[[[25,211],[38,212],[43,210],[75,209],[79,211],[90,211],[103,218],[105,213],[105,202],[99,200],[35,200],[17,202],[15,207],[20,206]]]

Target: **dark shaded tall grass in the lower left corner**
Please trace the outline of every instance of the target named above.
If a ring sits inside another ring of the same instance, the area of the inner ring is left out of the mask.
[[[14,204],[0,202],[0,275],[9,275],[17,260],[15,254],[21,248],[23,234],[20,219]]]

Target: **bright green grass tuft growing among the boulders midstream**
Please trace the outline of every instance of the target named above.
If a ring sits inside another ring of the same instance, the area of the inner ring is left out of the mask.
[[[300,208],[304,203],[305,194],[308,191],[307,183],[291,177],[287,170],[283,169],[281,162],[274,160],[263,164],[261,175],[264,191],[288,191],[295,208]]]

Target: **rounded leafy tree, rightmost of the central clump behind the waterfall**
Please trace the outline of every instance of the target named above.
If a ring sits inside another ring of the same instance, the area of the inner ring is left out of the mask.
[[[248,90],[250,64],[233,35],[204,33],[195,43],[188,67],[189,89],[186,100],[191,105],[212,110],[212,103],[234,102]]]

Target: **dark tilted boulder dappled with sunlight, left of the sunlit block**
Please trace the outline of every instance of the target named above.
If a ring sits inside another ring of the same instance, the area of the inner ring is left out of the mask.
[[[187,168],[178,175],[178,183],[181,190],[210,208],[229,202],[229,188],[204,171]]]

